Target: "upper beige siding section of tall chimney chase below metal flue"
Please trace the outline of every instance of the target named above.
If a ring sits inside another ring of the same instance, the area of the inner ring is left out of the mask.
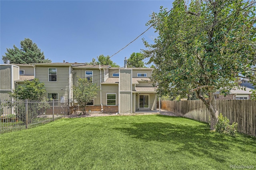
[[[131,74],[132,74],[131,69],[120,69],[120,72],[119,72],[120,91],[131,91],[131,89],[132,89]]]

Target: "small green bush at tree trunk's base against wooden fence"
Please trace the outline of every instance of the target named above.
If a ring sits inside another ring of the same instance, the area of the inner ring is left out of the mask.
[[[223,117],[222,113],[218,116],[218,123],[216,124],[215,130],[219,133],[226,133],[235,136],[237,133],[238,123],[230,121],[227,117]]]

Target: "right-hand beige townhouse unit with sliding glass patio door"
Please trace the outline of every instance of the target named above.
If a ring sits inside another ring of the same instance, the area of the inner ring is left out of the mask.
[[[89,111],[104,113],[135,113],[156,110],[156,91],[149,77],[151,68],[113,68],[109,65],[72,66],[73,84],[77,78],[88,78],[99,85]],[[74,105],[77,105],[74,100]]]

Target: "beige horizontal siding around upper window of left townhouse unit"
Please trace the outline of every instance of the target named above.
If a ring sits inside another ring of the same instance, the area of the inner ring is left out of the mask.
[[[57,81],[48,81],[48,69],[57,69]],[[65,105],[68,105],[69,95],[69,67],[68,66],[39,66],[36,65],[36,78],[39,79],[40,83],[44,83],[46,89],[45,96],[47,93],[58,93],[58,101],[61,97],[65,99]],[[62,88],[62,89],[61,89]],[[64,105],[60,103],[58,105]]]

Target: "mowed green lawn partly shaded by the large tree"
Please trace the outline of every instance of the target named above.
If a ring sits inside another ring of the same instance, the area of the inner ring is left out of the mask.
[[[0,135],[1,170],[256,168],[256,138],[163,115],[86,117]]]

